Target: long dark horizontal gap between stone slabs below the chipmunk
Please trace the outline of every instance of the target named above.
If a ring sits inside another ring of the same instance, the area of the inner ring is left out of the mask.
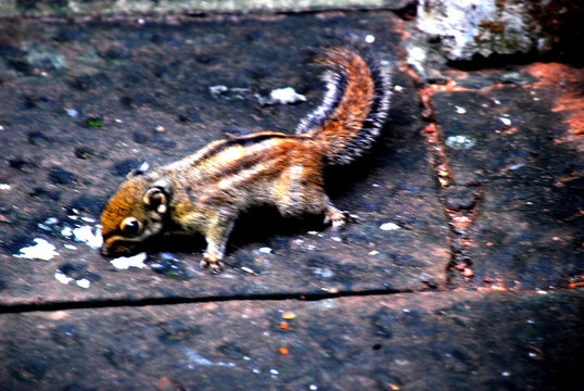
[[[424,290],[424,292],[439,291],[439,289]],[[342,298],[366,298],[366,297],[388,297],[397,293],[417,293],[414,290],[391,290],[377,289],[366,291],[340,291],[323,293],[271,293],[271,294],[241,294],[231,297],[211,295],[204,298],[145,298],[145,299],[119,299],[119,300],[90,300],[90,301],[55,301],[45,303],[18,303],[18,304],[0,304],[1,314],[23,314],[34,312],[56,312],[71,310],[98,310],[98,308],[116,308],[116,307],[143,307],[143,306],[163,306],[179,304],[199,304],[199,303],[223,303],[238,301],[322,301]]]

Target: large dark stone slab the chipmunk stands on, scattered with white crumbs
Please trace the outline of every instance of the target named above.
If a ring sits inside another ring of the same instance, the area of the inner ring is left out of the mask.
[[[350,31],[370,34],[379,55],[397,63],[399,28],[385,12],[179,25],[3,25],[0,181],[10,189],[0,203],[2,303],[441,285],[447,225],[419,134],[415,84],[397,66],[398,89],[379,143],[355,165],[327,173],[333,202],[359,217],[346,230],[333,232],[318,216],[290,220],[252,211],[237,224],[221,276],[200,269],[201,238],[161,240],[145,268],[124,270],[98,254],[92,238],[102,207],[129,171],[173,162],[227,134],[293,133],[323,92],[314,48]],[[259,104],[257,94],[282,87],[308,101]],[[35,239],[56,254],[23,257],[23,248],[38,245]]]

